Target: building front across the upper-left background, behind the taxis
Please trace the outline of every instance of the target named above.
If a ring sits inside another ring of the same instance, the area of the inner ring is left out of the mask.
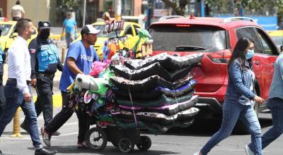
[[[79,27],[83,23],[83,3],[86,1],[86,24],[95,23],[103,13],[108,11],[115,16],[139,16],[142,0],[21,0],[25,9],[25,18],[34,23],[40,20],[50,20],[52,26],[62,26],[68,11],[74,12]],[[11,20],[10,12],[16,0],[0,0],[4,17]]]

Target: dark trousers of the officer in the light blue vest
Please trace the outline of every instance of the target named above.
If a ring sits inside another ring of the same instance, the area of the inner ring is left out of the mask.
[[[37,85],[35,87],[37,92],[37,100],[35,101],[35,111],[37,117],[40,113],[43,113],[43,118],[45,120],[45,125],[50,123],[53,118],[53,100],[52,100],[52,88],[53,88],[53,78],[37,76]],[[26,125],[26,120],[23,121]]]

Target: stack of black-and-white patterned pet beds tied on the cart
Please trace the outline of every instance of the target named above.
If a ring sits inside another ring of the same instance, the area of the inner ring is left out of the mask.
[[[115,103],[120,112],[115,122],[122,128],[148,128],[166,132],[174,126],[191,124],[199,109],[190,70],[202,60],[203,54],[170,56],[158,54],[144,60],[127,60],[110,66]]]

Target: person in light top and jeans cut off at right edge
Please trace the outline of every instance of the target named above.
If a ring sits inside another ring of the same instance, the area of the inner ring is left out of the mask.
[[[281,53],[275,62],[275,69],[270,86],[267,107],[272,114],[273,126],[262,135],[262,149],[276,140],[283,133],[283,54]],[[246,154],[255,154],[253,144],[245,146]]]

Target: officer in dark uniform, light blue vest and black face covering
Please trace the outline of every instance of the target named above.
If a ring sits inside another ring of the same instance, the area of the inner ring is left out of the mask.
[[[42,112],[45,125],[47,125],[53,117],[52,88],[54,73],[57,69],[62,71],[63,66],[57,53],[57,46],[49,39],[50,23],[40,21],[37,31],[37,37],[28,45],[31,64],[30,83],[37,92],[37,101],[35,101],[37,117]],[[21,128],[28,132],[25,120],[21,124]],[[59,135],[59,132],[54,132],[53,135]]]

